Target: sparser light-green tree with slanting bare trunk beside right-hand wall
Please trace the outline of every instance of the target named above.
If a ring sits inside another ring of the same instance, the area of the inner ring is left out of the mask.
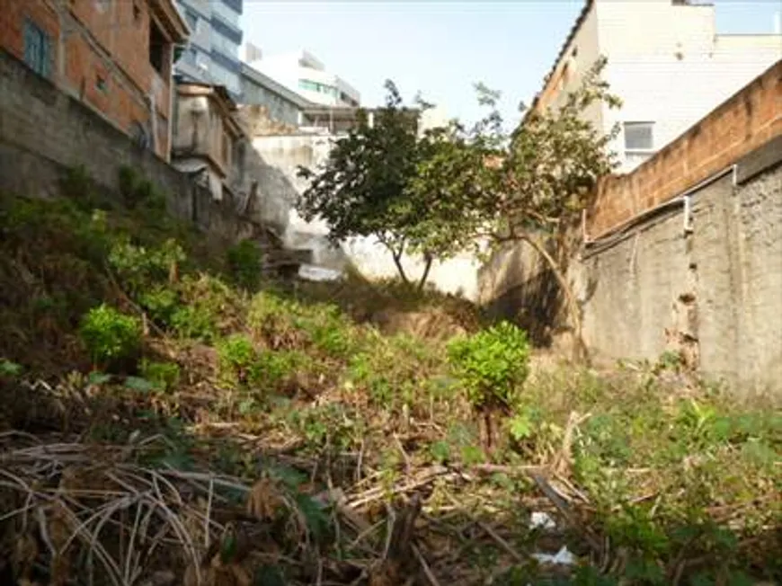
[[[462,237],[484,239],[494,247],[511,241],[532,246],[564,293],[584,354],[580,310],[564,274],[568,235],[591,204],[600,177],[615,167],[608,147],[617,129],[603,135],[583,117],[593,104],[619,104],[600,79],[604,66],[600,59],[591,67],[560,108],[528,111],[510,134],[502,130],[496,109],[499,93],[478,85],[478,100],[489,114],[468,131],[454,127],[447,145],[419,162],[408,190],[413,199],[447,193],[447,205],[430,208],[431,215],[442,218],[431,221],[458,221]]]

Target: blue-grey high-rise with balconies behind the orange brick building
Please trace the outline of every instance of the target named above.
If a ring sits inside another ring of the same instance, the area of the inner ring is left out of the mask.
[[[240,17],[244,0],[177,0],[192,34],[176,63],[183,81],[225,85],[236,100],[241,91]]]

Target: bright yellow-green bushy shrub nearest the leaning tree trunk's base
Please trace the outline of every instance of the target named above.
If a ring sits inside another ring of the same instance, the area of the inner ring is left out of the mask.
[[[477,409],[516,404],[529,375],[529,342],[508,322],[449,343],[449,363]]]

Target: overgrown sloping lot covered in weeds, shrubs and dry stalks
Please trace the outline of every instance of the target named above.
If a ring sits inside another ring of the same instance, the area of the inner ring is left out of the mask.
[[[4,583],[782,579],[782,412],[671,357],[542,368],[466,302],[286,293],[143,205],[4,196],[0,229]]]

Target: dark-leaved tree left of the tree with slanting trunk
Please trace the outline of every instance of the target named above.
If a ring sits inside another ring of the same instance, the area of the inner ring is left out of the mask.
[[[405,282],[410,280],[404,254],[421,254],[422,288],[431,263],[457,252],[455,243],[463,239],[450,234],[446,215],[428,213],[433,194],[409,188],[422,156],[429,156],[434,145],[434,133],[421,137],[418,131],[421,111],[431,105],[417,99],[418,108],[405,107],[393,82],[386,89],[385,107],[375,111],[374,124],[360,111],[358,125],[336,141],[323,169],[299,168],[310,183],[297,209],[307,221],[322,218],[333,242],[376,237]]]

